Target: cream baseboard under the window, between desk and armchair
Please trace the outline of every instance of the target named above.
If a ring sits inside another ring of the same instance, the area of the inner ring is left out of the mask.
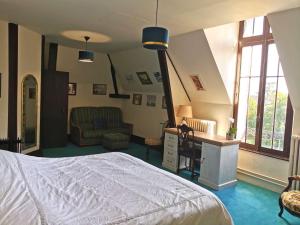
[[[278,193],[282,192],[282,190],[287,186],[287,183],[284,181],[241,168],[237,169],[237,178],[239,180],[246,181],[250,184],[254,184]]]

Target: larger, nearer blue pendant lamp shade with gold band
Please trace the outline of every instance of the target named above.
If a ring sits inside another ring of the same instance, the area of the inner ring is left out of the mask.
[[[145,27],[142,41],[144,48],[165,50],[168,48],[169,32],[163,27]]]

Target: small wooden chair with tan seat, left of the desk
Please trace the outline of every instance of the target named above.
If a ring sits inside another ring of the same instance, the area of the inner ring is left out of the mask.
[[[165,122],[161,123],[161,125],[162,125],[162,135],[161,135],[160,138],[151,138],[151,137],[146,137],[145,138],[145,145],[147,147],[147,149],[146,149],[146,161],[149,160],[150,149],[156,149],[156,150],[160,151],[161,156],[163,158],[165,128],[169,127],[169,121],[165,121]]]

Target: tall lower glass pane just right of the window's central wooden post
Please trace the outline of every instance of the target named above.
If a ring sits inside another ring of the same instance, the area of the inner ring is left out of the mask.
[[[261,140],[261,146],[264,148],[272,148],[276,89],[277,78],[268,77],[266,79],[264,118]]]

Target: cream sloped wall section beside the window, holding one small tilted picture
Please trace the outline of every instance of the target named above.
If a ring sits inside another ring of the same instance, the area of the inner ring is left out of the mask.
[[[231,104],[203,30],[171,38],[168,52],[192,102]],[[190,75],[198,75],[204,91],[197,91]]]

